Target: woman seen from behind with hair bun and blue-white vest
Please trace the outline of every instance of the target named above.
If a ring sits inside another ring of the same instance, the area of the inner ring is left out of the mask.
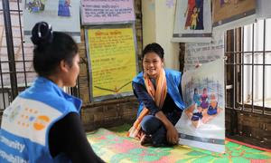
[[[34,25],[31,39],[38,78],[3,113],[0,162],[103,162],[82,128],[81,101],[62,90],[76,85],[77,44],[45,22]]]

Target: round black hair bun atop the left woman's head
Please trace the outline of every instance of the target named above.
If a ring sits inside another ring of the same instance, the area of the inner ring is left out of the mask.
[[[52,41],[51,24],[47,24],[46,22],[39,22],[35,24],[32,29],[31,40],[35,45],[51,43]]]

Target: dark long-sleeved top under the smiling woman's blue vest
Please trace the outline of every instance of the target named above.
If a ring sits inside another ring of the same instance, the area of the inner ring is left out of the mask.
[[[145,107],[150,111],[150,114],[155,115],[156,112],[159,111],[159,108],[156,106],[154,100],[152,99],[151,95],[146,91],[144,85],[132,82],[134,94],[139,102],[143,102]],[[181,83],[178,86],[179,91],[181,92],[182,97],[182,86]],[[173,110],[180,110],[180,108],[175,104],[173,98],[166,94],[164,105],[162,107],[162,111],[164,113],[173,112]]]

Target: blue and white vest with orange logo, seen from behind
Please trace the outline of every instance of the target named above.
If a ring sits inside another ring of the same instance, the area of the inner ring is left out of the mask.
[[[0,162],[69,162],[63,154],[51,157],[49,131],[68,113],[79,113],[81,103],[55,83],[39,77],[4,110]]]

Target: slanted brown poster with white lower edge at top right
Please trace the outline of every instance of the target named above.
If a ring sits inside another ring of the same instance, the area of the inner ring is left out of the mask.
[[[256,0],[217,0],[212,7],[214,31],[252,24],[256,19]]]

